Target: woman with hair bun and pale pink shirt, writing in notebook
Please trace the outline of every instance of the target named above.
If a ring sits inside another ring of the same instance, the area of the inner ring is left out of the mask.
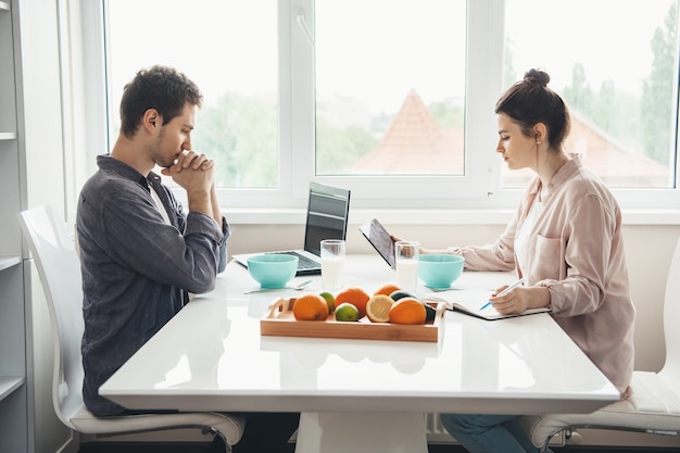
[[[537,177],[493,244],[449,248],[473,270],[516,270],[525,286],[491,302],[502,314],[549,306],[555,322],[621,392],[630,394],[634,307],[624,254],[621,213],[605,185],[563,149],[569,112],[537,70],[495,106],[508,168]],[[501,288],[503,289],[503,288]],[[471,453],[538,452],[517,415],[442,414],[446,430]]]

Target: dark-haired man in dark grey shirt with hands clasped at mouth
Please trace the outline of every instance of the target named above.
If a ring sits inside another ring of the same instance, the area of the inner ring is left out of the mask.
[[[214,163],[191,149],[202,95],[184,74],[164,66],[142,70],[125,86],[121,131],[99,171],[83,187],[77,236],[83,272],[83,395],[98,416],[125,413],[99,395],[99,387],[189,301],[211,291],[224,269],[229,227],[219,212]],[[186,190],[188,214],[152,172]],[[191,332],[187,332],[188,339]],[[268,425],[277,414],[262,414]],[[298,426],[287,423],[279,444]],[[248,424],[257,427],[259,415]],[[257,430],[255,428],[254,430]],[[261,451],[268,451],[264,448]],[[274,450],[272,450],[274,451]]]

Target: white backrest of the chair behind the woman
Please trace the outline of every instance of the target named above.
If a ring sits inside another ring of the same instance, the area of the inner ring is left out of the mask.
[[[673,388],[680,382],[680,238],[668,269],[664,299],[666,363],[659,375]]]

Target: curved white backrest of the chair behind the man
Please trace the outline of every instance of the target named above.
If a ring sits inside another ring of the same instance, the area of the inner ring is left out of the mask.
[[[50,206],[20,213],[48,302],[54,342],[52,403],[62,423],[73,429],[71,417],[83,405],[83,288],[80,262],[73,239]]]

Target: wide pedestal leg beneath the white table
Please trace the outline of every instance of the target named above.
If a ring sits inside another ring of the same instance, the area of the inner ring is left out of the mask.
[[[427,453],[419,413],[305,412],[295,453]]]

